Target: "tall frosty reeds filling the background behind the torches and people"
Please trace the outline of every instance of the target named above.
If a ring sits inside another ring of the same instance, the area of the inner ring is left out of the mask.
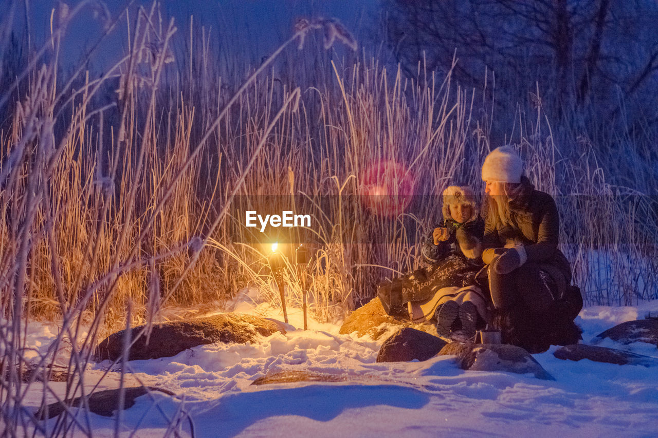
[[[44,401],[62,397],[38,373],[23,381],[26,368],[47,374],[57,356],[69,376],[64,397],[86,395],[93,348],[116,329],[147,323],[147,336],[153,322],[176,317],[172,309],[218,310],[248,286],[280,305],[267,264],[278,236],[247,228],[236,205],[292,205],[313,216],[309,229],[280,241],[286,294],[301,303],[305,276],[311,314],[328,320],[371,299],[379,281],[417,268],[420,237],[440,220],[436,193],[455,180],[481,187],[493,114],[450,72],[420,63],[405,78],[376,59],[300,59],[293,44],[314,44],[315,31],[322,47],[345,43],[353,56],[355,39],[336,20],[300,20],[247,79],[220,77],[207,36],[181,55],[173,22],[154,4],[128,17],[130,49],[113,67],[92,79],[83,64],[58,78],[61,32],[79,7],[53,15],[51,37],[0,97],[11,115],[0,126],[0,409],[10,435],[88,432],[77,408],[47,428],[24,409],[34,385]],[[538,94],[533,102],[509,116],[511,141],[538,188],[559,200],[576,283],[590,303],[656,297],[649,191],[611,184],[592,144],[575,141],[584,134],[552,128]],[[640,177],[655,189],[648,173]],[[371,196],[386,203],[364,205]],[[295,270],[301,241],[311,257]],[[603,281],[592,276],[599,265]],[[61,331],[28,358],[24,324],[35,318]],[[124,360],[105,369],[125,370]]]

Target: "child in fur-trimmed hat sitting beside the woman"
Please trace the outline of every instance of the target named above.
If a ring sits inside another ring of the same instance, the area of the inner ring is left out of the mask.
[[[432,298],[419,305],[436,306],[440,336],[470,339],[478,326],[486,324],[487,316],[487,298],[475,285],[475,275],[482,266],[484,221],[468,187],[447,187],[442,213],[442,226],[434,228],[422,245],[422,256],[432,266],[426,281]],[[413,302],[409,307],[413,309]],[[413,319],[413,311],[410,314]]]

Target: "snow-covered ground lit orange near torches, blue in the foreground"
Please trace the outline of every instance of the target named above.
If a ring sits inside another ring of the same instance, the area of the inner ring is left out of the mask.
[[[237,312],[282,320],[253,293],[234,304]],[[604,329],[643,318],[647,310],[658,310],[658,301],[585,308],[576,323],[589,343]],[[179,398],[157,392],[139,398],[122,414],[122,435],[138,429],[133,436],[161,437],[166,417],[181,410],[189,414],[197,437],[653,437],[658,430],[658,368],[559,360],[552,354],[557,347],[534,355],[555,381],[463,371],[452,356],[380,364],[375,362],[380,341],[339,335],[340,324],[311,321],[303,331],[301,310],[290,309],[289,316],[286,335],[130,362],[126,386],[142,382]],[[47,345],[51,330],[41,326],[32,333],[35,342]],[[600,345],[658,357],[657,348],[644,343]],[[108,364],[90,370],[89,385]],[[257,377],[286,370],[348,378],[251,385]],[[115,375],[111,372],[101,386],[116,387]],[[39,400],[35,396],[30,403],[36,408]],[[95,436],[114,434],[114,418],[89,414],[89,421]],[[180,434],[191,436],[190,421],[180,423]]]

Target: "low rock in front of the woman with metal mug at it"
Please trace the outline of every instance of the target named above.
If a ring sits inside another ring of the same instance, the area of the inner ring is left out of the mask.
[[[516,345],[453,342],[439,354],[454,354],[463,370],[531,373],[538,379],[555,380],[530,353]]]

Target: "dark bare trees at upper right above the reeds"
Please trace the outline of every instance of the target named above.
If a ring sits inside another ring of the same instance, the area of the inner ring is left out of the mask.
[[[655,114],[645,99],[658,91],[658,3],[651,0],[384,0],[388,41],[415,75],[431,70],[484,89],[493,72],[511,102],[539,84],[556,115],[594,105],[614,116],[628,108]]]

